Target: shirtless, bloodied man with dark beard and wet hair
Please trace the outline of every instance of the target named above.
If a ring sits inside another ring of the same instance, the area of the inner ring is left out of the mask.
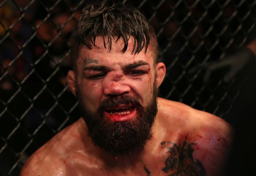
[[[158,98],[166,67],[134,7],[88,6],[67,82],[83,118],[36,151],[21,176],[218,176],[231,144],[222,119]]]

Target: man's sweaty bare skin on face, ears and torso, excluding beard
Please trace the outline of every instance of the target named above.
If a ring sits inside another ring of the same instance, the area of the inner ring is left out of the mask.
[[[136,96],[141,105],[146,106],[152,97],[153,80],[156,79],[159,87],[164,79],[164,64],[154,65],[151,50],[133,56],[132,48],[128,47],[122,54],[120,40],[112,43],[111,51],[107,52],[102,38],[96,39],[99,48],[89,50],[83,46],[79,51],[77,73],[68,73],[70,90],[75,94],[77,85],[86,108],[91,111],[96,111],[107,96],[123,93]],[[133,41],[129,43],[132,46]],[[231,126],[214,115],[179,102],[163,98],[157,98],[157,102],[153,137],[137,156],[113,156],[95,146],[81,118],[38,149],[20,175],[219,176],[232,143]],[[130,119],[125,120],[136,118],[128,117]]]

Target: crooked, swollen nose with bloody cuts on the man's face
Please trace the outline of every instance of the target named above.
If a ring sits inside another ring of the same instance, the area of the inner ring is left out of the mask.
[[[121,95],[131,91],[123,74],[109,74],[103,80],[103,92],[106,95]]]

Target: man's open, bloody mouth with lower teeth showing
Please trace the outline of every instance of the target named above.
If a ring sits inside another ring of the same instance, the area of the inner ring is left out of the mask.
[[[125,121],[133,119],[136,115],[136,108],[132,105],[122,104],[117,107],[109,107],[104,114],[113,121]]]

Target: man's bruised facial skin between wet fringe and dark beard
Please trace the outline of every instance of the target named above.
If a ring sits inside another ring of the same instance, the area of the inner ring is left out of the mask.
[[[131,55],[131,51],[128,50],[125,53],[121,53],[120,50],[122,50],[123,46],[119,42],[113,43],[111,51],[107,52],[101,44],[102,41],[96,38],[96,45],[100,48],[87,50],[85,47],[82,47],[77,59],[76,85],[80,87],[81,96],[87,97],[85,104],[88,109],[95,111],[98,107],[98,102],[102,102],[107,98],[107,95],[122,93],[130,93],[136,96],[143,106],[148,104],[154,83],[152,80],[155,79],[157,72],[156,68],[152,67],[154,65],[152,52],[144,54],[144,51],[141,51],[139,54]],[[147,65],[140,65],[142,61],[147,63]],[[134,69],[125,69],[130,64],[139,66]],[[100,71],[85,69],[86,67],[95,66],[105,66],[106,69]],[[145,73],[132,76],[130,71],[136,70]],[[103,74],[104,79],[89,79],[89,77],[95,74]],[[90,104],[87,102],[90,102]]]

